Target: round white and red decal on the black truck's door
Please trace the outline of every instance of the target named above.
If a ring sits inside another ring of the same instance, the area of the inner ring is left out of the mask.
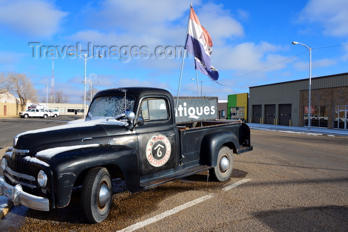
[[[171,142],[164,135],[154,135],[146,146],[146,157],[151,165],[160,167],[164,165],[171,156]]]

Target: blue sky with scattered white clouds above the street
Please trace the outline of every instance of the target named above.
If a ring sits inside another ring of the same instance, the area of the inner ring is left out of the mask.
[[[203,95],[226,100],[250,86],[308,78],[309,52],[292,41],[312,48],[312,77],[348,72],[347,0],[0,0],[0,72],[25,73],[42,99],[54,50],[55,90],[83,103],[84,61],[67,49],[104,47],[104,57],[87,60],[87,77],[100,82],[93,88],[153,86],[176,96],[182,57],[170,51],[184,46],[190,3],[212,38],[220,74],[218,84],[198,73]],[[180,96],[197,96],[191,78],[187,57]]]

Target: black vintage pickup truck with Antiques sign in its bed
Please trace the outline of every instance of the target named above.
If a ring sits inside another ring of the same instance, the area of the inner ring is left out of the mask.
[[[248,125],[211,120],[217,98],[203,106],[180,100],[175,111],[176,99],[165,89],[102,90],[86,120],[18,134],[1,160],[0,195],[49,211],[67,206],[73,188],[82,186],[84,214],[99,223],[108,215],[114,178],[130,192],[203,170],[228,180],[233,154],[253,150]]]

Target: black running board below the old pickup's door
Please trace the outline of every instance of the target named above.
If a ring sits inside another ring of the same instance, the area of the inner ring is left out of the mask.
[[[140,187],[143,189],[147,189],[147,188],[152,188],[155,187],[157,185],[160,184],[164,184],[167,182],[170,182],[172,180],[176,180],[176,179],[180,179],[189,175],[193,175],[195,173],[201,172],[201,171],[205,171],[208,170],[209,168],[211,168],[210,166],[206,166],[206,165],[196,165],[190,168],[186,168],[183,169],[181,171],[175,172],[173,174],[170,175],[166,175],[166,176],[160,176],[158,178],[155,179],[151,179],[151,180],[147,180],[144,182],[140,183]]]

